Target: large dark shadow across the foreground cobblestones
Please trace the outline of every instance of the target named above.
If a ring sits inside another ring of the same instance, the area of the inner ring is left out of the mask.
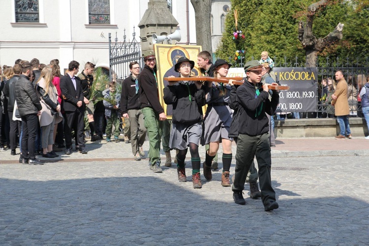
[[[0,244],[369,243],[369,209],[364,201],[345,196],[302,199],[276,188],[280,207],[267,213],[260,200],[246,194],[247,203],[241,206],[232,201],[228,188],[209,197],[202,190],[189,190],[188,183],[172,184],[152,176],[0,179]]]

